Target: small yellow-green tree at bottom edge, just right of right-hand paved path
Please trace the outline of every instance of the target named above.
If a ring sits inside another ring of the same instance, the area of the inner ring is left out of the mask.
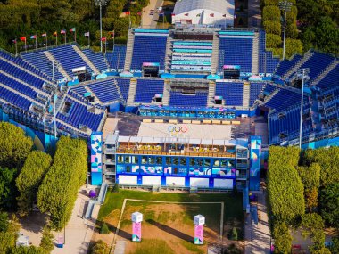
[[[275,246],[274,253],[287,254],[291,252],[292,236],[285,222],[274,226],[273,237]]]

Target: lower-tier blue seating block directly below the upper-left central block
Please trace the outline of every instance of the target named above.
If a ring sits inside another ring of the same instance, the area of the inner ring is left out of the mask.
[[[155,94],[163,94],[162,79],[137,79],[134,102],[151,103]]]

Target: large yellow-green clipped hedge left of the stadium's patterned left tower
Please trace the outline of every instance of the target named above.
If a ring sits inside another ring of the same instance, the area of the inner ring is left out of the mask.
[[[60,230],[68,222],[79,187],[87,176],[87,143],[62,136],[54,163],[37,193],[37,206],[50,213],[51,225]]]

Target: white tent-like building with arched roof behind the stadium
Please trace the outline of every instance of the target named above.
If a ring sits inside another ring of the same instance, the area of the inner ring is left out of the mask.
[[[178,0],[172,24],[233,26],[234,0]]]

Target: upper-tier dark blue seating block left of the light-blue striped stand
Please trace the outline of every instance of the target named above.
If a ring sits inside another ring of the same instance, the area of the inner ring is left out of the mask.
[[[160,64],[165,68],[168,29],[134,29],[134,45],[130,70],[141,72],[144,62]]]

